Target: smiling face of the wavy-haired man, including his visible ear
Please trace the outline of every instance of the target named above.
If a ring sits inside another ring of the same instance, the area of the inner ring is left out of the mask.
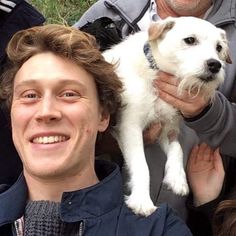
[[[63,178],[93,168],[97,132],[107,128],[109,116],[103,115],[93,77],[48,52],[17,72],[11,122],[24,174]]]

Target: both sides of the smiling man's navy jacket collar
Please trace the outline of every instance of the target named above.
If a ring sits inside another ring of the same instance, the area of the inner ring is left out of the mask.
[[[61,219],[76,222],[96,218],[120,206],[123,200],[122,178],[118,166],[96,161],[98,184],[65,192],[61,201]],[[28,189],[23,174],[8,190],[0,194],[0,226],[14,222],[24,214]]]

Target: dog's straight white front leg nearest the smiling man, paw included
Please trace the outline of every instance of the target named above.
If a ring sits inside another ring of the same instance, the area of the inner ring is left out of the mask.
[[[156,210],[150,198],[150,176],[143,146],[142,127],[137,117],[124,116],[118,132],[118,143],[129,172],[126,204],[134,213],[148,216]]]

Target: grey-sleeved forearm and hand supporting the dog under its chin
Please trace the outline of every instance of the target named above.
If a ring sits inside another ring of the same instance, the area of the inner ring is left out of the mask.
[[[236,104],[218,91],[212,102],[204,100],[201,94],[179,95],[176,78],[166,73],[160,73],[155,86],[160,98],[180,110],[185,124],[197,132],[201,142],[220,147],[221,154],[236,156],[232,145],[236,140]]]

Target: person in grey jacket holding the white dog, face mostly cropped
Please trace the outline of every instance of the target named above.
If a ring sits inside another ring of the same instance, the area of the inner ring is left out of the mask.
[[[234,62],[236,61],[236,47],[233,47],[236,40],[235,7],[236,0],[99,0],[84,13],[74,27],[86,29],[88,24],[105,17],[113,21],[106,27],[112,29],[113,33],[116,32],[117,37],[120,36],[122,40],[131,33],[146,30],[150,22],[168,16],[201,17],[226,30]],[[110,46],[109,38],[107,45]],[[236,101],[235,71],[235,64],[227,65],[225,82],[219,88],[212,104],[202,99],[200,95],[194,98],[189,97],[187,93],[182,96],[177,95],[176,79],[165,73],[159,73],[160,79],[156,81],[155,86],[159,89],[160,97],[178,108],[185,118],[180,133],[185,161],[193,145],[199,142],[199,137],[202,142],[207,142],[213,148],[220,146],[222,154],[236,156],[232,145],[236,140],[236,106],[231,103]],[[151,174],[153,202],[158,204],[167,201],[186,219],[185,198],[174,195],[162,185],[165,154],[158,144],[146,146],[145,152]]]

